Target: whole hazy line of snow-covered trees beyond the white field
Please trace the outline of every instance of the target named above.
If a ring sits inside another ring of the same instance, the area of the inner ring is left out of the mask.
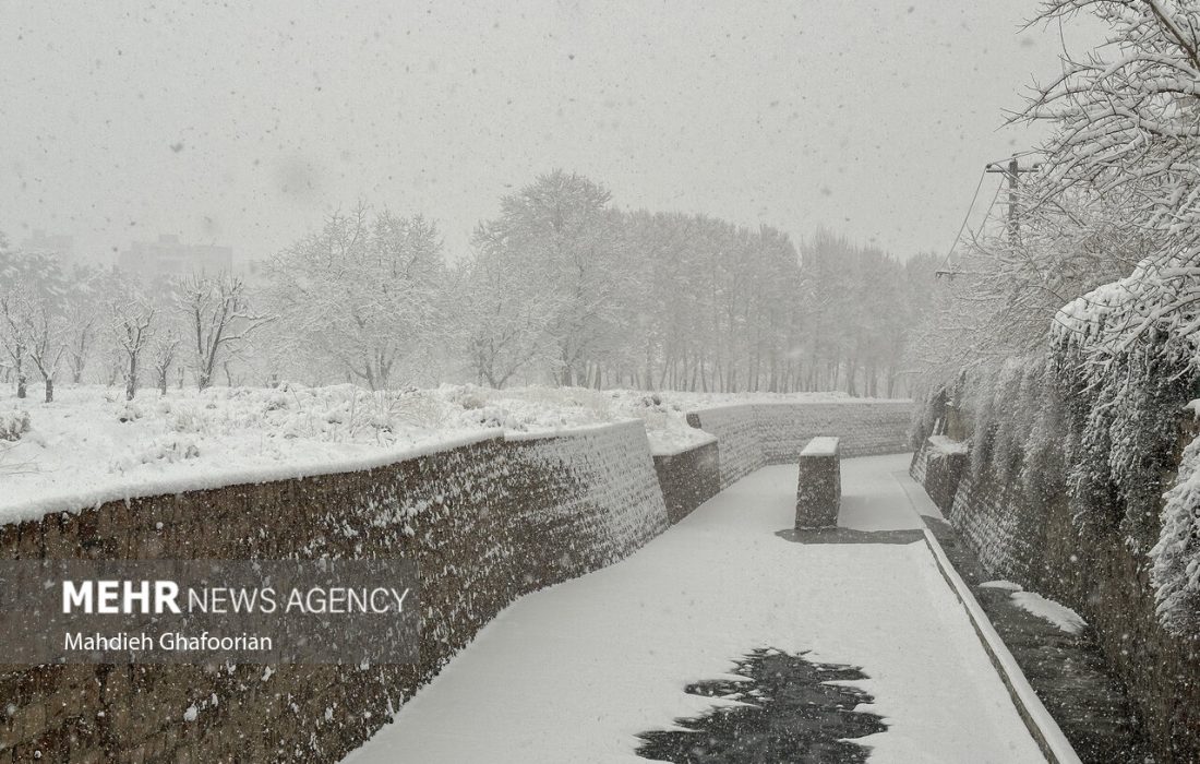
[[[252,283],[65,269],[0,241],[0,378],[24,395],[174,375],[204,388],[472,381],[698,392],[907,390],[935,259],[828,232],[628,211],[554,171],[500,199],[450,262],[437,226],[360,202]]]

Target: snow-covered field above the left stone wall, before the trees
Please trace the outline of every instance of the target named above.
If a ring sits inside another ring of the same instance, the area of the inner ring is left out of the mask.
[[[689,410],[784,400],[542,387],[371,393],[349,384],[170,389],[166,396],[143,389],[132,402],[121,389],[100,386],[62,386],[53,404],[40,393],[35,386],[24,400],[11,389],[0,394],[0,521],[133,495],[361,468],[502,431],[641,419],[652,453],[673,453],[713,440],[688,426]]]

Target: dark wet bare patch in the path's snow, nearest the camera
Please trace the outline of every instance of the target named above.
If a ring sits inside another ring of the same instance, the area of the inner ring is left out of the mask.
[[[868,746],[853,742],[887,732],[882,717],[854,711],[874,698],[833,681],[862,680],[852,665],[811,663],[804,653],[755,650],[732,672],[749,681],[721,679],[689,685],[685,691],[708,698],[738,700],[698,718],[676,720],[678,730],[638,735],[637,754],[688,764],[760,762],[865,762]]]

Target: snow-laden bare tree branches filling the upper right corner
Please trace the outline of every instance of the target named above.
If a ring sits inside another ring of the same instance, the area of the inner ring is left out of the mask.
[[[1154,330],[1200,329],[1200,4],[1051,0],[1039,19],[1080,12],[1108,25],[1106,44],[1064,54],[1021,118],[1055,125],[1038,203],[1079,189],[1120,210],[1117,229],[1153,241],[1142,288],[1102,347],[1120,354]]]

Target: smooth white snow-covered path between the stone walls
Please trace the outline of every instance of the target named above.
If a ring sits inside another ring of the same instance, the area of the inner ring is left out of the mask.
[[[907,456],[842,462],[841,524],[920,527]],[[871,762],[1044,760],[924,543],[800,544],[797,470],[763,468],[619,565],[504,610],[347,762],[646,762],[755,647],[860,665]],[[919,491],[919,488],[916,489]]]

